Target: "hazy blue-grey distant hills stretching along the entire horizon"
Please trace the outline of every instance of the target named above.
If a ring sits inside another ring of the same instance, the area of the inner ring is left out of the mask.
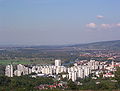
[[[20,45],[12,45],[12,46],[0,46],[0,47],[8,47],[8,48],[37,48],[37,49],[65,49],[65,48],[82,48],[82,49],[114,49],[120,50],[120,40],[113,41],[101,41],[101,42],[93,42],[86,44],[75,44],[75,45],[47,45],[47,46],[20,46]]]

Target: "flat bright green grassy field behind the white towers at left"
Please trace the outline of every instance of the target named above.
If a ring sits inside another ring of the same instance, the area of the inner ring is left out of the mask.
[[[48,60],[0,60],[0,65],[7,65],[7,64],[53,64],[53,61]]]

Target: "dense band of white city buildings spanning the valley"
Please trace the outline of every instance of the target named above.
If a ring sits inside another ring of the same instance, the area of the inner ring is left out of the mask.
[[[100,62],[95,60],[83,60],[79,64],[75,63],[72,67],[65,67],[61,65],[61,60],[55,60],[55,65],[35,65],[32,67],[26,67],[22,64],[17,65],[17,69],[13,70],[12,65],[7,65],[5,69],[5,75],[8,77],[28,75],[36,73],[36,76],[52,76],[59,77],[61,74],[63,78],[76,81],[78,78],[89,77],[90,74],[94,74],[100,77],[99,74],[105,72],[103,77],[114,77],[114,74],[110,73],[115,71],[115,66],[120,66],[120,63],[112,61],[111,63]],[[33,76],[35,77],[35,76]]]

